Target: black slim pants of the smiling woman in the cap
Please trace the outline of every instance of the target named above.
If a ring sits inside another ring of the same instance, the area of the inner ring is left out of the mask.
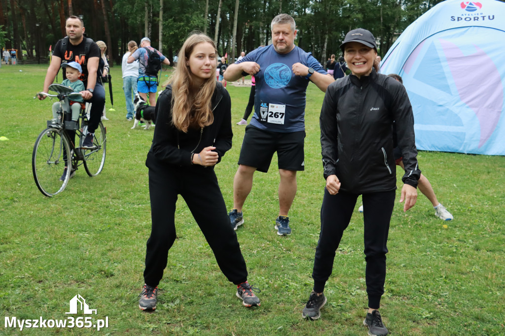
[[[314,291],[321,293],[331,275],[335,252],[349,225],[358,194],[340,191],[331,195],[324,190],[321,206],[321,232],[314,260]],[[393,212],[395,191],[363,194],[363,219],[365,225],[365,276],[368,307],[378,309],[384,294],[386,279],[386,253],[389,222]]]

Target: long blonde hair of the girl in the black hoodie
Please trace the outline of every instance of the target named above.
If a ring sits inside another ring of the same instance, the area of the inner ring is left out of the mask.
[[[214,41],[203,33],[192,33],[179,50],[179,62],[172,77],[166,84],[172,84],[172,123],[182,132],[189,127],[205,127],[214,122],[212,113],[212,95],[216,89],[216,62],[212,62],[209,77],[196,90],[193,88],[193,76],[187,61],[194,47],[199,43],[208,42],[217,54]],[[165,85],[166,85],[165,84]]]

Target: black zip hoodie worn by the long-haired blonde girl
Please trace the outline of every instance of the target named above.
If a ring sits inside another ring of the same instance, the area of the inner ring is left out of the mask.
[[[170,85],[160,94],[156,103],[156,128],[153,144],[147,154],[146,165],[155,163],[188,166],[192,153],[214,146],[218,153],[218,163],[224,153],[231,148],[231,100],[228,91],[221,83],[216,83],[212,96],[214,122],[197,130],[183,133],[172,124],[172,87]]]

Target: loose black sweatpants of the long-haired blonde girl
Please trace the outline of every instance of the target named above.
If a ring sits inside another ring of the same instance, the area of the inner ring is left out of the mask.
[[[149,167],[152,225],[145,255],[145,283],[156,287],[163,277],[168,250],[176,238],[175,203],[178,194],[186,201],[224,275],[235,285],[247,281],[245,261],[237,235],[230,225],[214,169],[200,165],[169,166],[153,161],[148,158],[146,163]]]

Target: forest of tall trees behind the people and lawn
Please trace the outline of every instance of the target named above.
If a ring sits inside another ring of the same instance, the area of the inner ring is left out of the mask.
[[[220,55],[234,60],[268,45],[270,22],[279,13],[296,20],[295,43],[323,65],[345,33],[370,30],[383,56],[401,32],[440,0],[2,0],[0,47],[18,50],[18,62],[47,63],[49,46],[65,33],[65,19],[80,16],[86,34],[107,43],[108,58],[120,64],[128,41],[149,36],[172,60],[187,35],[206,32]],[[21,50],[23,50],[21,52]]]

